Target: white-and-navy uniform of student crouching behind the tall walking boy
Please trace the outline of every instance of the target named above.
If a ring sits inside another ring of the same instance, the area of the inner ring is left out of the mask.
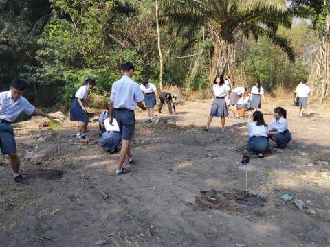
[[[109,118],[104,119],[104,129],[100,139],[100,146],[105,152],[118,151],[119,145],[122,142],[120,129],[116,119],[113,119],[113,125],[109,123]]]

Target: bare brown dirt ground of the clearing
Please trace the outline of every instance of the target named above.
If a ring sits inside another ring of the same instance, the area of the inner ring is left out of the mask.
[[[28,158],[56,144],[56,133],[16,130],[30,182],[14,183],[0,158],[0,246],[330,246],[329,109],[314,103],[299,118],[292,99],[263,104],[268,123],[275,106],[287,108],[293,140],[251,156],[246,197],[248,119],[229,117],[221,133],[214,118],[204,132],[210,103],[177,106],[176,126],[147,124],[137,110],[136,165],[122,176],[113,174],[118,154],[98,145],[96,123],[76,141],[65,121],[59,165],[56,152],[40,165]],[[285,193],[294,199],[285,202]]]

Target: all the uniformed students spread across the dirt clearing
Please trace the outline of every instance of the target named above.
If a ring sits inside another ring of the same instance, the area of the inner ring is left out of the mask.
[[[157,97],[159,98],[159,113],[162,106],[168,104],[168,111],[172,114],[172,104],[175,111],[175,95],[168,92],[159,93],[155,85],[148,82],[147,78],[142,80],[142,85],[137,84],[131,78],[133,77],[134,66],[130,62],[125,62],[122,65],[122,78],[114,82],[111,88],[109,110],[104,110],[99,118],[100,130],[102,137],[100,145],[107,152],[116,152],[119,150],[120,157],[116,166],[115,174],[121,175],[129,172],[123,166],[126,160],[131,165],[134,165],[133,154],[130,150],[130,142],[133,140],[135,132],[135,113],[136,106],[142,110],[148,110],[148,121],[153,121],[153,108],[156,104]],[[270,126],[265,124],[263,113],[258,109],[261,108],[261,97],[264,95],[263,88],[260,82],[257,82],[252,87],[251,93],[244,97],[246,88],[237,87],[230,93],[230,78],[224,80],[223,75],[217,75],[214,79],[213,92],[215,95],[212,102],[208,124],[204,130],[208,131],[213,117],[221,117],[221,132],[225,132],[225,117],[228,117],[228,102],[234,107],[234,114],[237,116],[237,109],[242,105],[246,108],[254,109],[253,121],[248,124],[248,148],[258,153],[258,156],[263,156],[269,148],[269,139],[275,141],[278,148],[285,148],[287,143],[291,141],[292,135],[288,130],[287,113],[282,107],[274,109],[274,118],[270,122]],[[89,93],[89,90],[96,85],[93,78],[87,78],[84,85],[76,92],[75,98],[72,101],[70,109],[71,121],[79,121],[77,138],[85,139],[87,137],[87,126],[89,117],[84,101]],[[19,174],[20,161],[17,156],[17,145],[14,139],[14,131],[12,122],[17,119],[21,112],[28,115],[33,113],[48,119],[55,119],[43,111],[32,106],[28,99],[25,99],[22,94],[27,87],[27,82],[21,78],[12,81],[9,91],[0,93],[0,149],[2,154],[10,156],[10,163],[14,171],[14,181],[17,183],[27,183],[27,180]],[[308,87],[307,87],[308,88]],[[307,107],[307,89],[305,81],[297,89],[296,101],[300,106],[300,115],[303,114],[303,109]],[[265,99],[263,97],[263,99]],[[144,106],[143,101],[146,106]]]

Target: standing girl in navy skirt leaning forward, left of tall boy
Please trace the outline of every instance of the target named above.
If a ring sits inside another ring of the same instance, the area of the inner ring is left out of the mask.
[[[88,116],[87,110],[84,105],[84,101],[87,98],[89,89],[93,88],[96,82],[92,78],[87,78],[83,86],[80,86],[76,92],[75,98],[72,101],[70,109],[70,120],[79,121],[80,125],[78,127],[77,137],[85,139],[87,137],[86,130],[88,126]]]

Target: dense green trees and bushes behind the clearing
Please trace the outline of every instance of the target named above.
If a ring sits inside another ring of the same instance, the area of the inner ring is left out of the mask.
[[[161,43],[168,86],[199,90],[210,84],[215,54],[211,31],[217,30],[217,16],[225,10],[215,8],[217,1],[193,5],[199,2],[185,1],[192,4],[189,12],[182,1],[162,2]],[[285,1],[269,1],[267,8],[263,2],[221,1],[228,8],[227,21],[221,19],[221,25],[228,24],[229,31],[221,31],[220,37],[234,44],[233,73],[238,83],[247,84],[258,75],[269,91],[281,85],[294,87],[308,76],[318,34],[307,23],[285,29],[293,23],[292,13],[283,9]],[[265,11],[268,14],[260,15]],[[314,27],[318,23],[314,21]],[[148,77],[158,84],[152,0],[0,0],[0,32],[0,89],[22,76],[29,81],[27,96],[39,106],[67,105],[87,76],[96,78],[95,91],[106,95],[120,77],[124,61],[135,64],[134,80]]]

